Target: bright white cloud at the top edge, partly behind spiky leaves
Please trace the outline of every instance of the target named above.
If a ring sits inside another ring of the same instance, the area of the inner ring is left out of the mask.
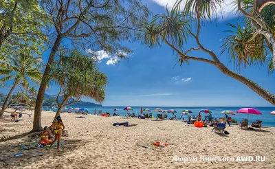
[[[166,7],[167,5],[167,7],[170,9],[173,7],[173,5],[177,0],[152,0],[152,1],[155,1],[157,4],[162,5],[164,7]],[[224,3],[221,4],[221,8],[217,7],[217,16],[219,18],[223,16],[224,19],[234,17],[234,12],[232,12],[232,10],[234,10],[234,7],[236,7],[235,3],[232,5],[234,1],[235,0],[224,0]],[[181,2],[181,10],[184,9],[185,4],[186,4],[186,0],[183,0]]]

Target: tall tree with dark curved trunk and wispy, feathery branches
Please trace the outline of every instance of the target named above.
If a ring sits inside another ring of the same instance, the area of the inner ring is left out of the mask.
[[[121,41],[133,41],[138,37],[136,30],[147,22],[148,9],[136,0],[42,0],[41,8],[50,19],[50,56],[43,74],[34,110],[32,131],[41,131],[41,111],[45,89],[50,82],[50,73],[58,49],[71,45],[78,49],[104,51],[110,56],[126,58],[131,49]]]

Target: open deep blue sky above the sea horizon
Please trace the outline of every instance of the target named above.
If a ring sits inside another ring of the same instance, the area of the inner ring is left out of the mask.
[[[146,0],[144,3],[153,14],[164,13],[168,0]],[[169,1],[171,5],[173,1]],[[224,30],[229,27],[226,23],[236,23],[229,9],[223,8],[224,20],[219,19],[217,25],[210,24],[201,31],[201,43],[220,52],[221,38],[225,37]],[[219,71],[207,63],[190,61],[189,66],[182,67],[177,63],[173,50],[166,45],[149,49],[140,42],[125,44],[133,49],[129,60],[120,60],[115,65],[110,58],[104,58],[99,63],[100,71],[104,72],[109,84],[106,90],[104,106],[272,106],[251,89]],[[197,47],[190,39],[186,49]],[[197,56],[209,58],[207,54],[196,53]],[[45,56],[47,57],[47,56]],[[109,60],[109,62],[108,62]],[[220,60],[230,69],[234,69],[228,56],[223,54]],[[251,78],[268,91],[275,93],[274,74],[267,74],[267,67],[249,67],[240,72]],[[7,93],[8,89],[1,89]],[[46,93],[56,94],[58,87],[52,86]],[[94,100],[83,98],[85,101]]]

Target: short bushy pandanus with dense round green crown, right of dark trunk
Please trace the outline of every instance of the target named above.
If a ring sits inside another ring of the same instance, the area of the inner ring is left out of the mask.
[[[54,82],[60,86],[56,98],[58,115],[63,107],[79,102],[82,97],[102,102],[105,98],[107,76],[98,71],[95,58],[74,50],[68,56],[61,55],[52,71]]]

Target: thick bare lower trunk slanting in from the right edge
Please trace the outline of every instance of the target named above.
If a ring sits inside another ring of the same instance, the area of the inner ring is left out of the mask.
[[[215,65],[221,72],[223,72],[223,74],[225,74],[227,76],[230,76],[231,78],[234,78],[234,79],[238,80],[239,82],[242,82],[243,84],[248,86],[250,89],[252,89],[252,91],[254,91],[255,93],[258,93],[259,95],[261,95],[262,98],[264,98],[265,100],[267,100],[271,104],[275,105],[275,95],[274,94],[272,94],[269,91],[263,89],[263,87],[261,87],[259,84],[256,84],[255,82],[253,82],[249,78],[245,78],[245,76],[242,76],[241,74],[237,74],[236,72],[228,69],[221,62],[219,62]]]

